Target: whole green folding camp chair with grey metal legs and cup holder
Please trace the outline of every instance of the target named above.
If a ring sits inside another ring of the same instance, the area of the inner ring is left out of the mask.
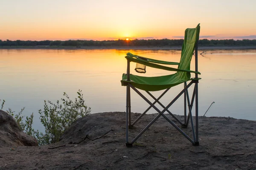
[[[126,146],[131,147],[133,143],[147,130],[160,116],[163,116],[172,126],[174,126],[183,136],[186,137],[193,145],[199,145],[198,138],[198,39],[200,32],[200,24],[196,28],[187,28],[185,30],[184,42],[182,45],[180,62],[166,62],[156,59],[150,59],[146,57],[140,57],[127,53],[125,57],[127,59],[127,73],[122,75],[122,86],[126,86]],[[195,51],[195,71],[190,71],[190,62]],[[152,68],[163,69],[167,71],[176,71],[175,74],[159,76],[159,77],[142,77],[134,74],[130,74],[130,62],[136,62],[135,70],[139,73],[145,73],[146,66]],[[159,65],[161,64],[161,65]],[[168,67],[165,65],[178,65],[177,68]],[[195,78],[191,78],[190,74],[194,73]],[[187,82],[189,82],[187,84]],[[183,83],[183,90],[170,102],[166,107],[159,102],[159,99],[166,94],[167,91],[173,86]],[[189,100],[188,88],[194,85],[194,90],[192,94],[191,101]],[[131,94],[130,88],[132,88],[137,94],[139,94],[150,107],[142,113],[133,123],[131,123]],[[155,101],[151,103],[141,92],[138,90],[146,91],[146,93],[151,96]],[[160,91],[165,90],[158,98],[155,98],[149,91]],[[184,94],[184,122],[180,121],[174,114],[172,114],[168,109],[169,107]],[[192,119],[192,106],[195,100],[195,127]],[[188,115],[186,111],[186,102],[188,103]],[[158,103],[163,110],[158,109],[154,104]],[[133,139],[131,142],[128,140],[129,127],[132,127],[137,123],[140,118],[145,115],[145,113],[150,109],[154,108],[159,114]],[[192,139],[181,130],[171,119],[169,119],[164,113],[168,112],[181,127],[188,127],[189,120],[192,127]]]

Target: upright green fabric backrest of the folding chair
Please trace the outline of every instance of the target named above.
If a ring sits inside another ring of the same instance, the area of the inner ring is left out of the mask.
[[[184,42],[182,45],[179,69],[190,70],[190,62],[195,50],[195,46],[199,39],[200,24],[196,28],[187,28],[185,30]],[[177,72],[177,77],[180,79],[190,79],[190,73]]]

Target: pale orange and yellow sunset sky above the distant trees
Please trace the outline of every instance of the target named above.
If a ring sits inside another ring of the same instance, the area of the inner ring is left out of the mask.
[[[1,0],[0,40],[256,39],[256,0]]]

